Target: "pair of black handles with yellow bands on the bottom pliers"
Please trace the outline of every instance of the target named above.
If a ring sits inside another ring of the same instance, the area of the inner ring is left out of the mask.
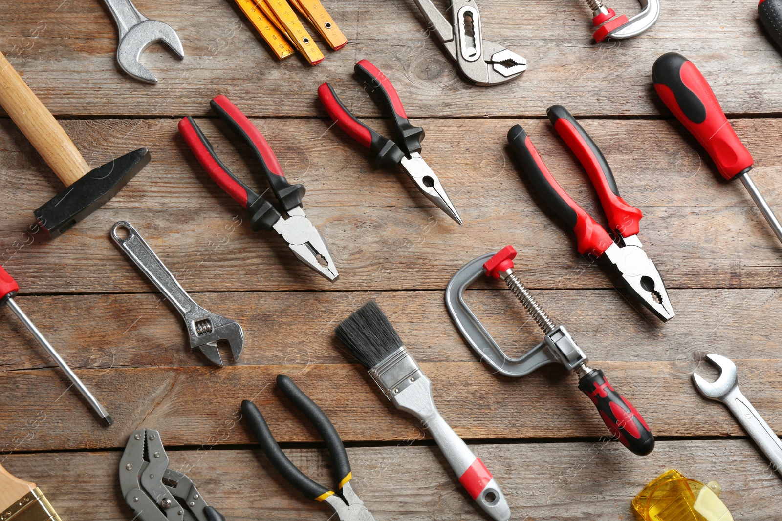
[[[307,419],[312,422],[318,434],[323,438],[334,463],[334,472],[337,479],[339,479],[339,488],[342,488],[350,481],[353,474],[350,472],[350,460],[347,458],[345,445],[334,425],[332,425],[331,420],[307,394],[304,394],[304,391],[289,376],[284,374],[278,375],[277,385],[285,396],[292,401],[293,405],[296,405],[296,408],[300,409],[304,416],[307,416]],[[307,498],[315,501],[323,501],[328,496],[334,494],[334,491],[317,484],[298,467],[293,465],[277,444],[277,441],[274,440],[264,415],[260,413],[252,401],[242,401],[242,416],[247,419],[253,434],[255,434],[260,444],[260,448],[264,451],[274,468],[285,477],[285,480],[288,480],[290,484],[303,492]]]

